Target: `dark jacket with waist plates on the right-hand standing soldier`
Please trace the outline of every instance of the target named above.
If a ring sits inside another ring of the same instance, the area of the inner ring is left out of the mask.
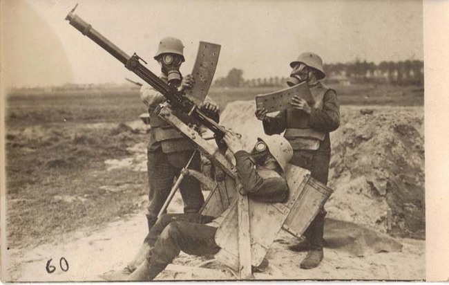
[[[314,98],[310,114],[293,108],[280,111],[263,121],[265,134],[281,134],[289,140],[294,151],[317,151],[330,154],[329,132],[340,125],[340,111],[336,92],[321,82],[312,86]]]

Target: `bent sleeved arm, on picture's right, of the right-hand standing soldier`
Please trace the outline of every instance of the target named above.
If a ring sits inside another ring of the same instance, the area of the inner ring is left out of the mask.
[[[323,109],[312,108],[309,127],[318,131],[335,131],[340,125],[340,107],[335,91],[329,90],[323,97]]]

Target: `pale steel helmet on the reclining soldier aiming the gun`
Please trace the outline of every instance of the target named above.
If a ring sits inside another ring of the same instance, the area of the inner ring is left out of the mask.
[[[267,145],[269,153],[284,171],[287,163],[293,157],[292,145],[288,140],[280,135],[260,136],[258,140],[262,140]]]

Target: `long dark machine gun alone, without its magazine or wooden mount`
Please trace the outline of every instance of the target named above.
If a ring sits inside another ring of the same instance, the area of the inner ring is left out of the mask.
[[[188,114],[197,122],[204,125],[204,127],[210,129],[218,141],[225,136],[225,128],[218,125],[215,120],[212,120],[204,112],[200,111],[197,104],[187,97],[184,91],[178,91],[175,86],[171,86],[161,80],[140,62],[142,60],[142,62],[146,64],[144,59],[139,57],[136,53],[132,56],[127,55],[123,50],[115,46],[115,44],[110,42],[106,39],[106,37],[92,28],[90,24],[86,23],[86,21],[79,16],[74,15],[73,12],[75,12],[77,6],[78,4],[68,13],[66,17],[66,20],[69,21],[70,25],[79,30],[79,32],[89,39],[92,39],[93,42],[104,48],[104,50],[122,62],[128,70],[135,73],[135,75],[142,78],[144,82],[150,84],[156,91],[164,95],[173,110]],[[218,118],[214,119],[217,119],[218,121]]]

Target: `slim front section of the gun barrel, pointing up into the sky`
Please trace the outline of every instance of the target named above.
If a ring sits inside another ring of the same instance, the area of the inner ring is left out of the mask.
[[[122,64],[126,64],[126,62],[128,62],[128,59],[131,58],[129,55],[124,53],[123,50],[106,39],[106,37],[103,37],[100,33],[98,33],[94,28],[92,28],[90,24],[86,23],[86,21],[81,19],[79,16],[73,15],[73,13],[70,12],[66,17],[66,20],[68,20],[68,23],[79,30],[79,32],[81,32],[83,35],[85,35],[89,39],[92,39],[96,44],[104,48],[108,53],[111,53],[111,55],[122,62]]]

